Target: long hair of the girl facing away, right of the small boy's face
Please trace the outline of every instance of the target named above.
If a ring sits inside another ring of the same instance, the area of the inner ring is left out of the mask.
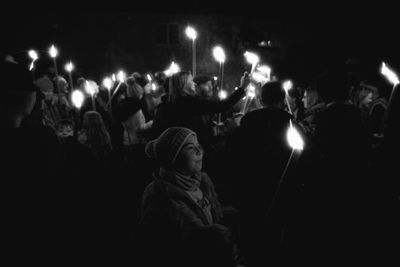
[[[86,140],[83,144],[95,151],[110,150],[111,138],[100,113],[97,111],[89,110],[84,113],[82,132],[86,134]]]

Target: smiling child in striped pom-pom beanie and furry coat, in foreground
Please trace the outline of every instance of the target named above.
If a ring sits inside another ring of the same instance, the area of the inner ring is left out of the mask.
[[[149,141],[145,151],[160,168],[143,192],[140,223],[161,232],[153,243],[166,242],[160,252],[171,256],[186,231],[223,223],[222,208],[210,177],[201,171],[203,151],[194,131],[169,127]]]

